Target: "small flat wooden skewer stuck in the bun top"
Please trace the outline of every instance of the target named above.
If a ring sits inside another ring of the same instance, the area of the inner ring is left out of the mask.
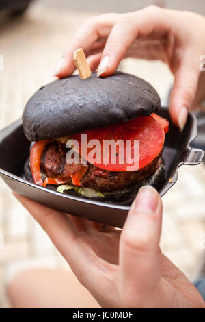
[[[74,64],[79,71],[81,79],[89,78],[91,75],[90,66],[87,64],[83,48],[79,48],[73,53]]]

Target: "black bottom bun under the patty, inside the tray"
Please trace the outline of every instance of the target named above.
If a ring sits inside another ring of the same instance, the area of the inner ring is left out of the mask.
[[[25,175],[25,179],[33,182],[33,177],[31,175],[31,168],[29,164],[29,158],[25,162],[24,175]],[[162,162],[161,166],[159,166],[159,168],[156,169],[156,171],[152,173],[150,177],[137,182],[133,186],[124,188],[123,190],[111,191],[109,193],[106,193],[105,197],[88,198],[83,195],[80,195],[79,193],[76,193],[74,190],[65,190],[64,193],[68,195],[81,197],[84,199],[92,199],[100,202],[114,203],[120,206],[130,206],[133,200],[135,199],[137,192],[141,186],[145,186],[149,184],[150,186],[153,186],[154,188],[156,188],[156,190],[159,190],[159,188],[161,188],[164,181],[165,181],[165,166]],[[57,186],[53,186],[53,185],[47,186],[47,188],[50,188],[51,190],[55,190],[55,191],[56,191],[56,187]]]

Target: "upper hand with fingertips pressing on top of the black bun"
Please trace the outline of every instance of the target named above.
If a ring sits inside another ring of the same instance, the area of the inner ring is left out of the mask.
[[[123,58],[162,60],[174,74],[170,101],[172,121],[182,130],[191,109],[205,54],[205,18],[192,12],[154,6],[126,14],[89,18],[66,49],[55,75],[74,72],[74,50],[83,47],[92,71],[113,74]],[[157,75],[156,75],[157,77]]]

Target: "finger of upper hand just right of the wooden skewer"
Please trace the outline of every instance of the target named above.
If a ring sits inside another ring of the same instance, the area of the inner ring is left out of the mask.
[[[169,28],[167,14],[157,7],[124,14],[107,39],[98,76],[113,74],[136,39],[161,40]]]

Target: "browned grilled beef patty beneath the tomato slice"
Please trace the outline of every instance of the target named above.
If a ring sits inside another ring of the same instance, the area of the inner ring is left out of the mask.
[[[72,184],[72,179],[69,175],[77,173],[81,164],[68,164],[66,162],[67,151],[68,149],[59,140],[53,140],[46,146],[41,158],[41,170],[46,177],[68,176],[68,183]],[[81,158],[80,156],[80,160]],[[107,171],[87,162],[87,171],[81,179],[81,186],[101,192],[122,190],[149,177],[159,168],[161,163],[161,153],[150,164],[138,171]]]

